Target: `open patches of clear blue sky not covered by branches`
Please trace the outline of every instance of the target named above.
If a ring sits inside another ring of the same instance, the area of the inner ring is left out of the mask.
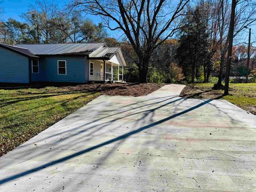
[[[8,18],[13,18],[13,19],[22,21],[22,19],[20,18],[20,15],[22,13],[27,12],[27,10],[29,9],[29,5],[34,4],[35,2],[36,2],[35,0],[3,0],[3,3],[1,5],[4,11],[2,14],[2,19],[7,20]],[[59,6],[64,6],[65,4],[68,3],[68,0],[54,0],[54,3],[58,4]],[[90,17],[88,18],[93,20],[93,22],[95,23],[100,22],[99,17],[90,15]],[[118,33],[118,31],[107,30],[107,32],[109,36],[114,37],[116,39],[118,39],[121,36],[121,33]],[[246,33],[244,33],[242,36],[244,35],[247,36]],[[256,25],[252,26],[252,41],[256,41]]]

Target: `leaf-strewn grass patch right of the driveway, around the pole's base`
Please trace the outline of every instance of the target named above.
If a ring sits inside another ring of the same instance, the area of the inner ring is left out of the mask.
[[[185,98],[225,99],[242,109],[256,115],[256,83],[231,83],[229,95],[223,90],[214,90],[212,83],[188,84],[182,91]]]

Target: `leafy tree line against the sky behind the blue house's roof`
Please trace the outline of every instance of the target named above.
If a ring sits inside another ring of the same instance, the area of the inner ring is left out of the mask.
[[[14,43],[90,43],[107,37],[102,23],[95,25],[84,19],[81,12],[63,11],[47,1],[37,1],[20,22],[9,18],[0,22],[1,42]]]

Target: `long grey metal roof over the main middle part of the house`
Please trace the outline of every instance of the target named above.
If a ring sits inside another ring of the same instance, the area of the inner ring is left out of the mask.
[[[82,54],[87,55],[105,43],[73,43],[73,44],[18,44],[16,46],[26,48],[36,55],[56,54]]]

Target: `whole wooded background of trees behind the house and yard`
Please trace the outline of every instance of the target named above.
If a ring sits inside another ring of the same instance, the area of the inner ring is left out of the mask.
[[[255,4],[236,0],[232,77],[247,73],[247,28],[255,25]],[[2,18],[0,42],[104,42],[122,48],[127,82],[212,82],[220,86],[226,74],[230,13],[230,0],[73,0],[65,7],[37,1],[21,15],[22,22]],[[101,22],[84,15],[97,15]],[[122,34],[121,38],[112,38],[108,30]],[[249,66],[254,82],[256,47],[252,45]]]

